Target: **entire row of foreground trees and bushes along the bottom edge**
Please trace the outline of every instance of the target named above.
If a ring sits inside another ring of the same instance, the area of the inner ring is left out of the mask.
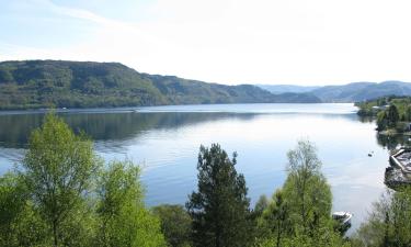
[[[237,154],[202,146],[185,206],[149,209],[138,166],[104,164],[87,136],[48,114],[21,165],[0,178],[0,246],[410,246],[407,191],[389,192],[346,238],[315,145],[299,141],[287,157],[283,187],[251,209]]]

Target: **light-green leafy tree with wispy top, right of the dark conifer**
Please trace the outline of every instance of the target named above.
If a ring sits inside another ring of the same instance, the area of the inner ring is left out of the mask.
[[[331,190],[316,147],[299,141],[287,155],[287,179],[258,218],[254,246],[347,246],[334,229]]]

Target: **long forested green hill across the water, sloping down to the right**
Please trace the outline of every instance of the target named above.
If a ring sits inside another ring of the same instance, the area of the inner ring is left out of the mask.
[[[140,74],[118,63],[0,63],[0,109],[100,108],[202,103],[316,103],[305,93],[273,94],[251,85],[225,86]]]

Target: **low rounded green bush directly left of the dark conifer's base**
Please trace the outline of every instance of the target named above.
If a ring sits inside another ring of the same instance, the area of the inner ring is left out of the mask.
[[[191,246],[191,217],[182,205],[158,205],[152,209],[160,218],[161,231],[170,247]]]

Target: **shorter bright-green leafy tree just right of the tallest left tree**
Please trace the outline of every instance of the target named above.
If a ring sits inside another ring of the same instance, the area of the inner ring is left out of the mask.
[[[164,246],[160,222],[144,205],[139,168],[114,161],[99,180],[99,246]]]

